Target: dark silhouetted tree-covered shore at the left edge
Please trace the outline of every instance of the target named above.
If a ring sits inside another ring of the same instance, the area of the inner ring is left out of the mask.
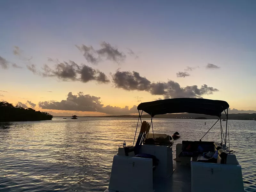
[[[36,111],[32,108],[13,106],[11,103],[0,102],[0,122],[9,121],[40,121],[52,120],[52,115],[47,112]]]

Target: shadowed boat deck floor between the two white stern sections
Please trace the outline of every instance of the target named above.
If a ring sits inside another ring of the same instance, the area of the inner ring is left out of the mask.
[[[191,171],[189,166],[180,165],[180,162],[173,160],[174,172],[165,180],[154,178],[154,192],[190,192],[191,191]]]

